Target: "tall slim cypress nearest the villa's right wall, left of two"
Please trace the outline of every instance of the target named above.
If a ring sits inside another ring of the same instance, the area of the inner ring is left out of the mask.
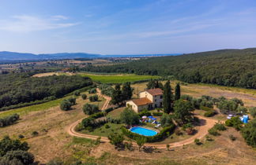
[[[172,111],[171,108],[171,86],[170,86],[170,81],[168,80],[167,83],[164,84],[164,112],[165,113],[170,113]]]

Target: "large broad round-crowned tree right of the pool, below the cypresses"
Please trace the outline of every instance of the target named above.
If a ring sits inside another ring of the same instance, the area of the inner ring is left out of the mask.
[[[174,119],[177,123],[183,125],[185,123],[189,123],[192,120],[193,114],[191,111],[193,110],[193,106],[190,101],[175,101],[174,104]]]

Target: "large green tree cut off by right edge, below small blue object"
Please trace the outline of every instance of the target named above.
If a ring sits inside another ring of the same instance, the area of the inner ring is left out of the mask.
[[[256,148],[256,119],[252,119],[243,127],[242,135],[248,145]]]

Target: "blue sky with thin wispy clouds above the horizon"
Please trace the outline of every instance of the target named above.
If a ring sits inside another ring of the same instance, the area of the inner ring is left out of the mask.
[[[0,0],[0,51],[195,53],[255,38],[255,0]]]

